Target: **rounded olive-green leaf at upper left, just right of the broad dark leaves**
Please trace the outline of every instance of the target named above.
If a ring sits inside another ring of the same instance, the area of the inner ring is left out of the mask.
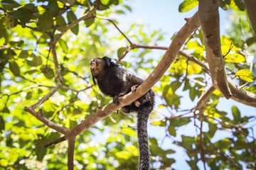
[[[47,31],[53,28],[53,16],[49,11],[43,13],[38,18],[38,27],[42,31]]]

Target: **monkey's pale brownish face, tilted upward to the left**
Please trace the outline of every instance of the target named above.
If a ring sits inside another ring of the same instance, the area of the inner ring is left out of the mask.
[[[92,76],[97,78],[100,74],[103,74],[105,66],[106,62],[102,58],[94,58],[90,60],[90,70]]]

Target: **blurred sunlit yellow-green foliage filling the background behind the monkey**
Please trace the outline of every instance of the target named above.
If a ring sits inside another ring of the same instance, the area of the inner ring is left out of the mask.
[[[67,142],[45,149],[43,145],[61,135],[23,108],[36,103],[55,86],[53,56],[49,53],[50,33],[57,36],[67,24],[87,12],[93,3],[86,0],[1,1],[0,169],[67,169]],[[132,11],[131,1],[102,0],[101,3],[95,13],[97,16],[112,19]],[[198,1],[180,3],[177,10],[186,12],[196,7]],[[221,38],[223,55],[233,43],[231,52],[224,58],[228,76],[235,77],[241,69],[255,73],[255,38],[243,11],[245,6],[238,0],[220,0],[220,7],[230,10],[232,21],[228,34]],[[115,23],[118,27],[122,25]],[[124,34],[132,42],[143,45],[157,45],[165,36],[160,30],[148,32],[146,26],[137,23],[129,23],[129,28],[124,29]],[[127,46],[129,43],[112,23],[99,18],[89,18],[71,28],[56,46],[64,87],[40,107],[43,115],[58,125],[73,128],[110,103],[112,99],[103,96],[97,86],[86,89],[92,84],[88,63],[93,57],[104,55],[114,56],[117,60]],[[206,62],[200,28],[183,50]],[[134,49],[120,64],[146,78],[161,59],[155,54],[152,50]],[[242,73],[240,78],[253,81],[250,74]],[[246,82],[234,80],[238,85]],[[186,152],[184,159],[191,169],[203,168],[200,149],[203,149],[206,166],[211,169],[242,169],[242,166],[255,169],[255,116],[241,115],[236,106],[229,114],[218,111],[219,100],[223,98],[219,91],[214,91],[208,99],[202,120],[197,112],[193,113],[194,106],[181,107],[183,101],[196,103],[210,85],[209,76],[198,64],[179,55],[153,87],[157,97],[150,129],[155,128],[154,133],[157,133],[157,128],[164,128],[166,137],[161,140],[150,138],[151,169],[173,167],[171,164],[180,159],[172,156],[176,149],[163,149],[168,145],[183,148]],[[253,82],[244,89],[256,93]],[[178,134],[184,128],[193,128],[196,135]],[[216,132],[223,131],[228,132],[229,137],[212,140]],[[200,136],[203,136],[201,144]],[[166,144],[166,139],[173,142]],[[135,116],[113,113],[77,137],[75,169],[135,169],[139,154],[137,147]]]

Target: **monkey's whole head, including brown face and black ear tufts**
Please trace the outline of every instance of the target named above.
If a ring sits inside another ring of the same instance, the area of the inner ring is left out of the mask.
[[[94,84],[96,84],[95,79],[97,79],[100,74],[105,74],[105,70],[110,67],[110,63],[111,59],[109,57],[94,58],[90,60],[90,70]]]

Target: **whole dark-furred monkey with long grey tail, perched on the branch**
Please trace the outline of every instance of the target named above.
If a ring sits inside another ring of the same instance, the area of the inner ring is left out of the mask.
[[[109,57],[94,58],[90,61],[92,80],[97,84],[106,96],[113,98],[115,104],[119,104],[117,98],[136,91],[137,86],[143,83],[126,69],[122,69],[118,64],[111,62]],[[139,107],[137,107],[139,105]],[[149,169],[149,137],[147,134],[147,120],[154,108],[154,91],[151,89],[137,101],[129,106],[122,107],[124,113],[137,113],[137,135],[139,144],[139,170]]]

